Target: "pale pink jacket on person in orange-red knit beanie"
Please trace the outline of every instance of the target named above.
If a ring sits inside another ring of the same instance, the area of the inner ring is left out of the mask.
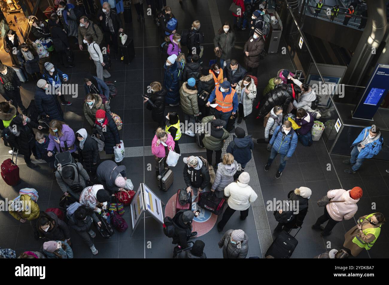
[[[358,210],[357,202],[359,199],[354,200],[350,197],[351,190],[334,189],[327,192],[327,197],[332,201],[344,201],[338,203],[328,203],[326,205],[327,212],[331,218],[335,221],[349,220],[354,217]]]

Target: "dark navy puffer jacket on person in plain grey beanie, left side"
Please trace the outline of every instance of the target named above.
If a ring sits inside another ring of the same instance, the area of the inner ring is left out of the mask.
[[[54,93],[54,92],[47,92]],[[56,94],[46,94],[46,90],[37,87],[35,90],[35,106],[41,116],[49,115],[50,120],[60,120],[63,122],[63,111],[58,96]]]

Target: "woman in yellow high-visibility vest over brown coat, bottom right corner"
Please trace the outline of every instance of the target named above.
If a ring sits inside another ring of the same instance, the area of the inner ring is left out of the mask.
[[[358,224],[344,235],[343,247],[349,249],[353,256],[360,254],[363,249],[371,249],[380,235],[385,218],[381,213],[373,213],[360,217],[357,222]]]

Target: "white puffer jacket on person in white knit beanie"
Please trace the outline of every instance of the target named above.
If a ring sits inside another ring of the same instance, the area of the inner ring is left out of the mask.
[[[232,182],[224,188],[224,195],[230,197],[228,198],[228,206],[238,211],[249,209],[251,203],[258,198],[249,184],[243,184],[239,181]]]

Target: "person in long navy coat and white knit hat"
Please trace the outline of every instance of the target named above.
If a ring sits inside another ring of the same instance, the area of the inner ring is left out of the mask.
[[[163,80],[163,86],[167,90],[167,94],[165,97],[165,102],[170,106],[178,106],[180,103],[180,86],[178,76],[179,73],[182,72],[178,66],[177,56],[172,54],[166,59],[166,63],[163,68],[165,68],[165,78]]]

